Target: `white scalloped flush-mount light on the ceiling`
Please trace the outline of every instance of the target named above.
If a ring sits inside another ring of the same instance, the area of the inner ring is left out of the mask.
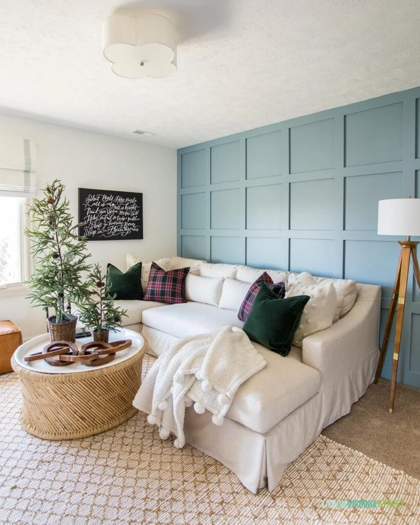
[[[120,77],[169,77],[176,71],[174,33],[161,15],[112,15],[102,27],[103,55]]]

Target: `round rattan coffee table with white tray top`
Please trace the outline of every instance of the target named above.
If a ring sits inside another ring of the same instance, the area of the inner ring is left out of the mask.
[[[137,413],[132,402],[141,384],[147,341],[132,330],[111,332],[110,342],[121,339],[131,339],[132,345],[93,369],[82,363],[58,367],[44,360],[25,362],[26,355],[48,344],[48,334],[20,345],[12,366],[22,390],[22,427],[41,439],[77,439],[116,427]],[[80,348],[91,340],[77,339],[76,344]]]

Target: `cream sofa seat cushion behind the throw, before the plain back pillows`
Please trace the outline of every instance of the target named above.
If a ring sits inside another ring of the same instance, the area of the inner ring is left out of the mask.
[[[187,302],[152,308],[143,312],[143,323],[175,337],[183,338],[213,332],[225,326],[242,328],[244,323],[233,310],[223,310],[210,304]]]

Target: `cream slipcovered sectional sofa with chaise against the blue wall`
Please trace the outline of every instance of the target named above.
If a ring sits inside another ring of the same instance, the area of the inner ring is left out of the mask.
[[[128,256],[128,265],[134,262]],[[166,270],[191,267],[186,280],[188,302],[116,301],[127,309],[125,328],[141,332],[150,353],[160,355],[186,336],[226,325],[243,327],[237,318],[241,299],[264,270],[181,257],[156,262]],[[286,290],[295,287],[295,295],[299,283],[310,278],[266,271],[275,282],[285,281]],[[214,425],[209,413],[186,411],[186,442],[226,465],[252,492],[265,486],[274,490],[288,464],[324,427],[349,413],[373,381],[379,356],[380,287],[340,279],[314,280],[327,283],[328,293],[320,297],[318,308],[332,308],[335,322],[306,335],[304,323],[311,323],[307,314],[300,327],[303,339],[297,341],[301,348],[293,345],[286,357],[254,343],[267,366],[240,386],[222,426]]]

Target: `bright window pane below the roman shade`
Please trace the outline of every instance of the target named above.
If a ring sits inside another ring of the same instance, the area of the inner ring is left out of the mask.
[[[28,199],[0,197],[0,288],[28,277],[28,242],[24,235]]]

